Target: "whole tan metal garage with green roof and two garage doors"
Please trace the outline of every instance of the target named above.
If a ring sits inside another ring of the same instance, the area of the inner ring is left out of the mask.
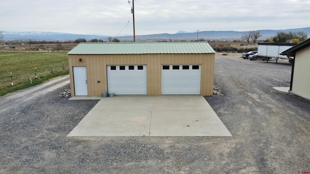
[[[206,42],[79,43],[68,56],[72,96],[213,95]]]

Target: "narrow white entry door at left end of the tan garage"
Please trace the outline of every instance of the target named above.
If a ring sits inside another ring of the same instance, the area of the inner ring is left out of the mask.
[[[75,95],[87,96],[86,67],[73,67]]]

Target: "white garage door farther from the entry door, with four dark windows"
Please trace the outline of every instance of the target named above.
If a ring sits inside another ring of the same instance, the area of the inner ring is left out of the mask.
[[[200,94],[200,65],[162,65],[162,94]]]

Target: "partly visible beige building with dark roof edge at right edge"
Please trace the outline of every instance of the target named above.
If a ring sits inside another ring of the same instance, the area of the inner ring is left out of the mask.
[[[310,39],[282,52],[294,57],[290,92],[310,100]]]

